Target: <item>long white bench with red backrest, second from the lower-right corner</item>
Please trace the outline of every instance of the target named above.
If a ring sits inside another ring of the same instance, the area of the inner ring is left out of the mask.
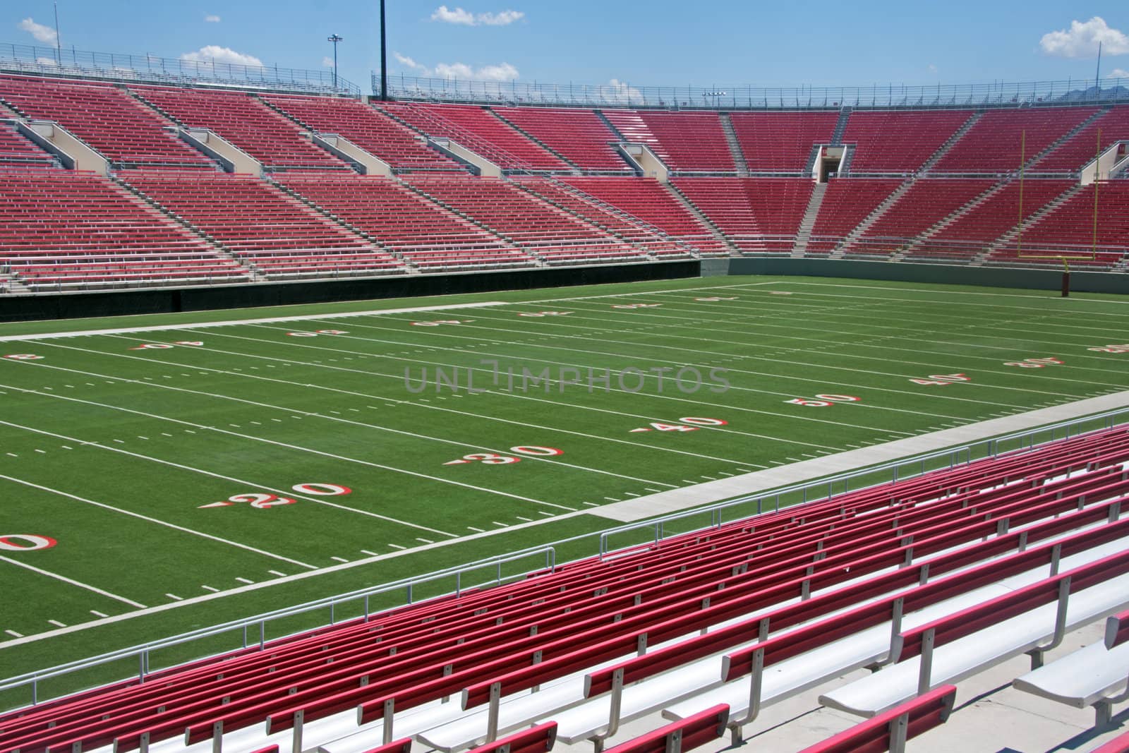
[[[1129,550],[905,631],[892,666],[824,693],[820,703],[870,717],[1019,654],[1038,668],[1067,631],[1126,606]]]

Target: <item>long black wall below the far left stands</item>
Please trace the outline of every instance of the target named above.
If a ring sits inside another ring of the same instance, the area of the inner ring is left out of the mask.
[[[0,296],[0,321],[84,318],[166,314],[253,306],[324,304],[338,300],[444,296],[458,292],[524,290],[639,280],[673,280],[700,274],[700,262],[607,264],[570,269],[527,269],[460,274],[412,274],[303,282],[268,282],[211,288],[157,288],[105,292]]]

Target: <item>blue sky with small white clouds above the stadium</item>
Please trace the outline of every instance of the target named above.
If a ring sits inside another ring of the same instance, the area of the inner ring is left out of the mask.
[[[368,90],[377,0],[59,0],[64,47],[321,68]],[[50,0],[6,0],[0,42],[53,44]],[[1093,79],[1129,71],[1121,2],[387,0],[388,63],[519,81],[725,86]],[[28,20],[29,19],[29,20]],[[38,40],[38,42],[36,42]],[[1129,76],[1129,73],[1127,73]]]

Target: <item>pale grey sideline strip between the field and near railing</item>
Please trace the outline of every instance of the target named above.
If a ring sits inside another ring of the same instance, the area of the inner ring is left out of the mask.
[[[999,435],[1015,434],[1048,423],[1070,421],[1071,419],[1092,413],[1114,411],[1121,408],[1129,408],[1129,391],[1102,395],[1101,397],[1089,397],[1073,403],[1064,403],[1053,408],[1027,411],[1000,419],[969,423],[955,429],[931,431],[919,437],[909,437],[907,439],[887,441],[882,445],[874,445],[873,447],[851,449],[846,453],[781,465],[765,471],[729,476],[728,479],[719,479],[718,481],[698,483],[692,487],[663,491],[657,494],[628,499],[622,502],[612,502],[611,505],[588,510],[588,514],[621,523],[631,523],[656,515],[666,515],[710,502],[719,502],[742,494],[755,494],[760,491],[811,481],[835,473],[848,473],[868,465],[877,465],[947,447],[959,447]]]

